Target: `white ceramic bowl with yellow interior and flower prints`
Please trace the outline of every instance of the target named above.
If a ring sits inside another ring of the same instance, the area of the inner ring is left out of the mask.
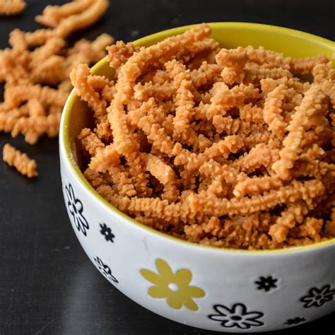
[[[292,57],[326,54],[334,43],[307,33],[251,23],[212,23],[224,47],[263,45]],[[189,27],[141,38],[148,46]],[[102,59],[93,74],[112,76]],[[335,310],[335,239],[308,247],[242,251],[177,240],[117,210],[81,173],[76,136],[90,112],[74,92],[61,119],[61,180],[83,249],[113,286],[168,319],[213,331],[261,332],[310,322]]]

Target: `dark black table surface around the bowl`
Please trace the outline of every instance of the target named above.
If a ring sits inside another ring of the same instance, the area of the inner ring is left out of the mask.
[[[13,28],[35,30],[46,4],[28,0],[20,16],[0,18],[0,48]],[[76,37],[102,32],[125,41],[199,22],[245,21],[282,25],[334,40],[333,0],[111,0],[99,23]],[[0,92],[1,94],[1,92]],[[0,95],[1,101],[1,95]],[[126,298],[90,263],[66,215],[57,139],[30,146],[0,134],[37,160],[28,180],[0,163],[0,334],[218,334],[171,322]],[[271,334],[334,334],[335,315]]]

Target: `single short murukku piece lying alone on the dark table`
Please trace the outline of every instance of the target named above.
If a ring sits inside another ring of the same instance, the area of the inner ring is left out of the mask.
[[[15,167],[21,175],[26,175],[28,178],[38,175],[35,160],[30,159],[28,155],[21,153],[18,149],[11,146],[11,144],[6,143],[4,145],[2,157],[4,162]]]

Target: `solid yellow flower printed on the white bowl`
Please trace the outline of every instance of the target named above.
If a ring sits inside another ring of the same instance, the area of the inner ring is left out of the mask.
[[[187,269],[178,270],[173,274],[169,264],[163,259],[157,259],[155,272],[142,269],[141,275],[155,286],[151,286],[148,294],[153,298],[166,298],[167,305],[175,310],[180,310],[182,305],[189,310],[198,310],[198,305],[192,298],[204,297],[205,292],[201,288],[189,286],[192,281],[192,272]]]

